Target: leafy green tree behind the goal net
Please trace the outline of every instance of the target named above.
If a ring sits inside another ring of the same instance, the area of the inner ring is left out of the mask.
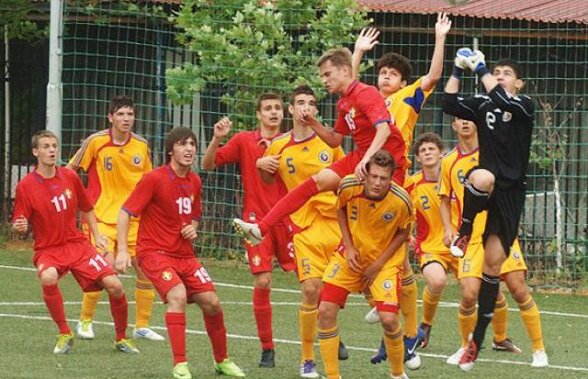
[[[208,83],[222,83],[221,98],[237,128],[251,125],[255,98],[265,89],[287,91],[307,83],[323,95],[316,59],[354,41],[369,20],[355,0],[188,0],[175,17],[178,41],[197,56],[167,71],[167,94],[192,102]]]

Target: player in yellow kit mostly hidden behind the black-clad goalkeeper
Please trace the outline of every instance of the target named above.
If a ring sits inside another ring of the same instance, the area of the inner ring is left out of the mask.
[[[463,180],[468,171],[478,165],[478,138],[476,125],[471,121],[455,118],[453,129],[457,132],[458,145],[442,160],[441,176],[439,180],[439,196],[441,197],[441,218],[444,226],[444,244],[449,246],[455,238],[455,222],[460,219],[463,204],[464,186]],[[456,202],[457,212],[451,203]],[[474,225],[470,245],[466,255],[460,258],[459,282],[461,287],[461,303],[459,308],[459,324],[462,336],[462,347],[451,357],[447,363],[457,365],[468,346],[468,335],[473,332],[476,324],[476,302],[482,280],[484,264],[484,246],[482,235],[486,223],[487,212],[478,214]],[[546,367],[548,365],[547,354],[543,345],[541,331],[541,319],[537,304],[533,300],[527,285],[525,284],[525,264],[520,245],[515,240],[511,252],[502,264],[501,278],[506,283],[509,292],[519,305],[521,318],[527,329],[527,333],[533,344],[533,367]],[[492,325],[494,328],[494,340],[492,347],[495,350],[520,353],[506,335],[508,305],[506,298],[499,293],[494,308]],[[426,329],[426,328],[425,328]]]

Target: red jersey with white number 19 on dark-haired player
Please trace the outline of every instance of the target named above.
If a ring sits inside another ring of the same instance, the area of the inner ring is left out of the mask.
[[[190,171],[185,178],[165,165],[145,175],[123,204],[131,216],[141,216],[137,255],[156,250],[175,257],[194,257],[192,242],[181,230],[202,217],[202,180]]]

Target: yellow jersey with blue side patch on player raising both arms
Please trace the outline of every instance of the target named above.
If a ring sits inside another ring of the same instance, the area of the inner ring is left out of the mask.
[[[401,88],[385,99],[386,107],[402,134],[402,139],[406,145],[407,159],[410,154],[412,137],[420,111],[434,89],[423,91],[421,88],[422,82],[423,77],[420,77],[414,83]]]

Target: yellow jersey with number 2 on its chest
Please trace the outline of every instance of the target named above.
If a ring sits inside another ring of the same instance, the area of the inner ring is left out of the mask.
[[[437,179],[430,180],[423,171],[418,171],[409,179],[407,187],[416,210],[416,246],[423,253],[445,253],[448,248],[443,244],[445,235],[441,221],[441,200]],[[452,223],[455,227],[454,218]]]

